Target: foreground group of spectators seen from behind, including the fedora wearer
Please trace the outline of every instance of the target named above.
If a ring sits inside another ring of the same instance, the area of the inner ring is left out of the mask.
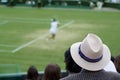
[[[61,76],[58,64],[46,66],[42,80],[120,80],[120,55],[111,56],[110,49],[99,36],[89,33],[81,42],[73,43],[64,53],[67,76]],[[40,80],[37,69],[30,66],[26,80]]]

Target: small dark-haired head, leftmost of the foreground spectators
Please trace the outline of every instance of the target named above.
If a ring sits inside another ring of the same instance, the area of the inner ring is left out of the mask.
[[[39,73],[35,66],[30,66],[27,71],[27,79],[39,80]]]

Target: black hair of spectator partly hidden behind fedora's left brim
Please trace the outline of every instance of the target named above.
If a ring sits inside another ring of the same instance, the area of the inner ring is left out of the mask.
[[[65,57],[65,63],[66,63],[66,70],[68,72],[78,73],[81,71],[82,68],[78,66],[71,57],[70,48],[65,51],[64,57]]]

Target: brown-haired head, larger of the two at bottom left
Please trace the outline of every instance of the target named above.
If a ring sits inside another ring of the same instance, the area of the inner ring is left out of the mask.
[[[48,64],[45,68],[43,80],[59,80],[61,77],[61,69],[58,64]]]

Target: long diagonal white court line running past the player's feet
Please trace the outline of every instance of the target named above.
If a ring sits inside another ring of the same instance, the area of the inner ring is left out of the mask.
[[[67,27],[68,25],[72,24],[73,22],[74,22],[74,21],[72,20],[72,21],[70,21],[70,22],[68,22],[68,23],[66,23],[66,24],[64,24],[64,25],[62,25],[62,26],[60,26],[60,27],[58,27],[58,28],[61,29],[61,28]],[[19,51],[19,50],[21,50],[21,49],[23,49],[23,48],[31,45],[32,43],[38,41],[39,39],[43,39],[43,38],[47,37],[48,35],[49,35],[49,34],[45,34],[45,35],[43,35],[42,37],[40,36],[40,37],[38,37],[38,38],[36,38],[36,39],[34,39],[34,40],[26,43],[26,44],[23,44],[23,45],[17,47],[16,49],[14,49],[14,50],[12,51],[12,53],[17,52],[17,51]]]

